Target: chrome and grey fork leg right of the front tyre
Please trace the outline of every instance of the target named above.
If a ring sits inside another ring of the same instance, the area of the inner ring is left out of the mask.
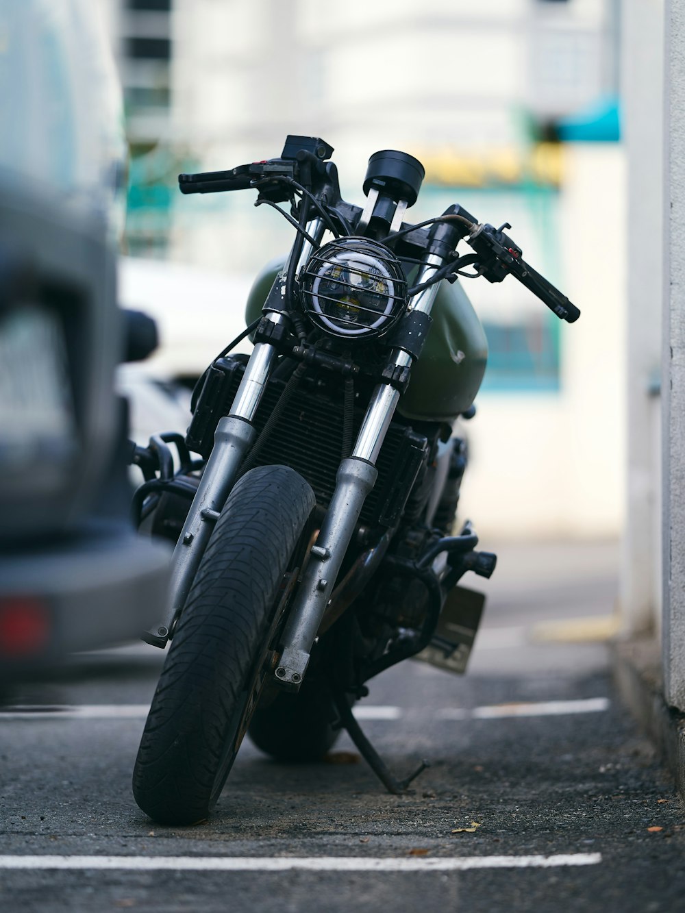
[[[441,257],[428,254],[416,284],[426,282],[441,264]],[[437,288],[437,285],[430,286],[416,295],[412,302],[413,310],[430,313]],[[389,362],[394,363],[395,367],[407,367],[411,363],[411,356],[402,349],[393,349]],[[378,384],[366,410],[352,455],[342,460],[338,469],[335,491],[321,523],[316,549],[312,550],[304,569],[300,589],[283,631],[283,652],[276,677],[290,690],[300,687],[307,671],[311,646],[331,599],[364,499],[374,487],[378,476],[374,464],[399,397],[399,392],[389,383]]]

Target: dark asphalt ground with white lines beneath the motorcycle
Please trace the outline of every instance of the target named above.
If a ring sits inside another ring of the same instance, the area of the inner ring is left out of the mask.
[[[395,771],[431,763],[401,796],[346,736],[305,766],[246,743],[208,823],[160,827],[131,793],[160,654],[81,656],[6,691],[0,908],[682,909],[680,801],[592,640],[615,546],[499,551],[469,674],[407,662],[360,705]]]

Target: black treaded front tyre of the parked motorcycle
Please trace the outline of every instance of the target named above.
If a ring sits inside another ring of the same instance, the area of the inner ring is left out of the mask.
[[[269,675],[269,648],[315,506],[289,467],[258,467],[216,520],[142,734],[133,795],[159,824],[206,818]]]

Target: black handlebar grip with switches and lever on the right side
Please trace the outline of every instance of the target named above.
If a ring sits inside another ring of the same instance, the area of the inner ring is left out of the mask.
[[[580,317],[580,310],[555,289],[551,282],[530,267],[522,259],[522,249],[504,234],[504,228],[511,228],[505,222],[500,228],[479,224],[467,237],[469,245],[479,255],[482,275],[490,282],[501,282],[510,275],[532,291],[560,320],[573,323]]]

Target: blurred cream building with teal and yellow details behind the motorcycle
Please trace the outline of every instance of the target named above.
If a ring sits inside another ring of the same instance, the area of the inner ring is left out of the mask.
[[[559,325],[512,280],[467,286],[491,355],[469,426],[465,511],[485,533],[616,536],[626,402],[625,169],[611,120],[618,0],[100,2],[134,152],[129,252],[242,277],[287,250],[290,227],[255,212],[251,194],[184,198],[175,176],[278,155],[289,132],[332,143],[342,192],[357,203],[372,152],[415,154],[427,177],[411,218],[458,202],[511,222],[524,256],[583,310]]]

